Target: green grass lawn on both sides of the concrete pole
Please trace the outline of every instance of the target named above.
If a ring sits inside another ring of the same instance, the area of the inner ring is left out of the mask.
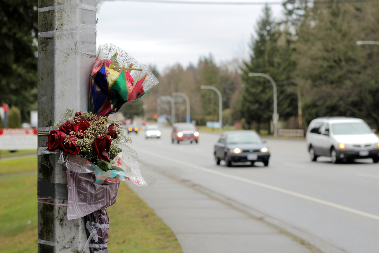
[[[0,160],[1,253],[37,252],[37,174],[6,176],[36,168],[37,157]],[[124,182],[108,213],[110,252],[182,252],[172,231]]]

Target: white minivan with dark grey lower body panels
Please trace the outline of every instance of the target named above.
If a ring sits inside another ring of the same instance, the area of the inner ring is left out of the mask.
[[[358,158],[379,162],[379,138],[362,119],[313,119],[307,130],[307,147],[312,161],[329,156],[333,163]]]

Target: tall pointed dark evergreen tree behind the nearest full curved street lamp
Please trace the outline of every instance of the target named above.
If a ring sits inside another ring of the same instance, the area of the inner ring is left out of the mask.
[[[244,88],[241,90],[239,111],[241,118],[246,120],[248,127],[252,122],[269,123],[273,115],[273,87],[269,80],[262,77],[249,77],[250,72],[270,75],[276,82],[290,78],[294,67],[291,53],[291,40],[286,33],[279,30],[271,18],[271,9],[266,5],[263,17],[258,21],[257,38],[252,39],[250,62],[244,62],[242,79]],[[280,116],[296,115],[296,94],[285,87],[277,87],[278,113]]]

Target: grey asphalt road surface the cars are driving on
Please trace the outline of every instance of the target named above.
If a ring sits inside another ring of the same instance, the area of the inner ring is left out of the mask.
[[[304,140],[267,140],[268,167],[216,165],[218,134],[200,132],[199,143],[171,143],[171,130],[160,139],[130,134],[130,146],[143,164],[265,215],[269,222],[324,252],[379,253],[379,166],[371,159],[332,164],[311,162]]]

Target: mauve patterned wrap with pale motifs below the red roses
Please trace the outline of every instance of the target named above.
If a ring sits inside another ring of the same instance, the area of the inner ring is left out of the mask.
[[[95,184],[94,173],[77,173],[67,169],[67,219],[84,217],[116,203],[120,182]]]

